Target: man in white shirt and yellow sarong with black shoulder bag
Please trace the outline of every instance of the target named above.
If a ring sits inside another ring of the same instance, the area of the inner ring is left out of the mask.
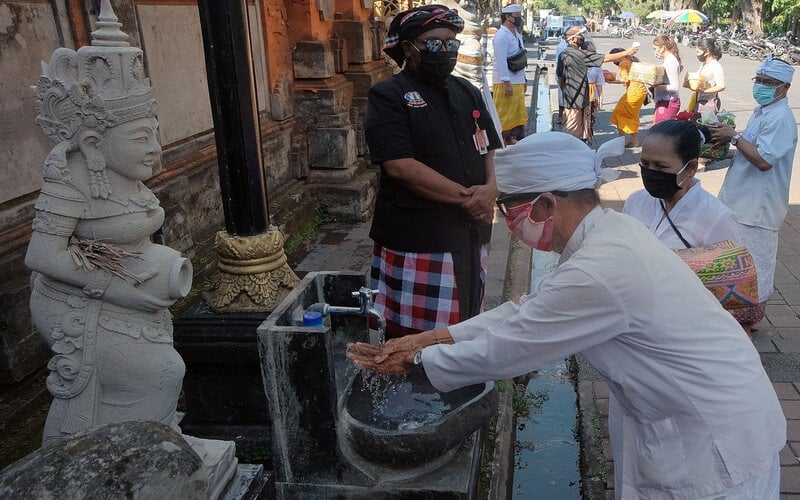
[[[509,4],[500,11],[500,29],[492,47],[492,99],[503,127],[503,141],[514,144],[525,137],[528,112],[525,109],[525,69],[511,71],[508,57],[525,50],[522,40],[522,6]]]

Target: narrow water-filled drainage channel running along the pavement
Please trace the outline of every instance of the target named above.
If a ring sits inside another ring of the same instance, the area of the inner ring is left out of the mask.
[[[549,75],[537,67],[530,117],[535,131],[552,128]],[[533,131],[531,131],[533,132]],[[551,252],[533,251],[531,289],[556,264]],[[512,498],[571,500],[580,498],[580,444],[576,437],[575,386],[566,362],[530,376],[520,397],[529,415],[517,418]]]

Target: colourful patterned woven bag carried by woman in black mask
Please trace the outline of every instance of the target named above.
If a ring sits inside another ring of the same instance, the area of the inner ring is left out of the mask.
[[[675,250],[740,322],[758,315],[758,280],[750,252],[730,240]]]

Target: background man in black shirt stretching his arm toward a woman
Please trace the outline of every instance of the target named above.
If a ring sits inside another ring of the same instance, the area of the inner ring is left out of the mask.
[[[556,77],[564,96],[564,114],[561,129],[578,139],[586,140],[586,124],[590,120],[589,81],[586,72],[604,62],[614,62],[639,51],[631,47],[615,54],[598,54],[585,50],[586,39],[583,26],[571,26],[566,31],[567,48],[558,56]]]

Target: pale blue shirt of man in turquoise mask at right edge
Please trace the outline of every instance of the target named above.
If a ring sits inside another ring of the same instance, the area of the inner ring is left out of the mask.
[[[728,205],[740,224],[777,231],[789,209],[789,184],[797,148],[797,122],[789,101],[783,99],[757,106],[742,138],[758,148],[769,170],[759,170],[738,151],[733,155],[719,199]]]

